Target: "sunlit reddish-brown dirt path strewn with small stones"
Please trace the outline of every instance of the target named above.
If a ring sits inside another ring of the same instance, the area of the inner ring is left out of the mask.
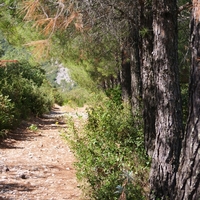
[[[57,106],[52,114],[60,111]],[[75,111],[70,110],[70,115]],[[73,167],[75,158],[60,137],[60,130],[67,125],[56,121],[50,115],[24,122],[0,142],[0,199],[81,199]],[[27,128],[31,124],[37,125],[36,132]]]

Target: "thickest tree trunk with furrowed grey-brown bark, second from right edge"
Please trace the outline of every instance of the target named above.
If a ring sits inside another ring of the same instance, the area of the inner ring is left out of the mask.
[[[182,136],[176,0],[153,0],[156,141],[150,199],[174,199]]]

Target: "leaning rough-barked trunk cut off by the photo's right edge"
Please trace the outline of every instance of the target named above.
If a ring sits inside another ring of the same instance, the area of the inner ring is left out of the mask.
[[[200,3],[193,0],[189,116],[177,176],[176,200],[200,198]]]

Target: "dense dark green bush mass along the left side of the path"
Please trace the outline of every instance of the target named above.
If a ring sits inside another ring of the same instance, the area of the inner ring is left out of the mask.
[[[14,122],[30,114],[48,112],[54,103],[51,86],[43,71],[27,62],[0,68],[0,93],[0,130],[12,128]]]

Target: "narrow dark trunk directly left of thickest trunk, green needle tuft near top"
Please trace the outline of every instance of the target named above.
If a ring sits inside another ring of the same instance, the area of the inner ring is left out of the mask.
[[[147,154],[152,157],[155,147],[155,80],[153,67],[153,14],[152,5],[141,1],[140,35],[141,45],[141,78],[144,119],[144,142]]]

